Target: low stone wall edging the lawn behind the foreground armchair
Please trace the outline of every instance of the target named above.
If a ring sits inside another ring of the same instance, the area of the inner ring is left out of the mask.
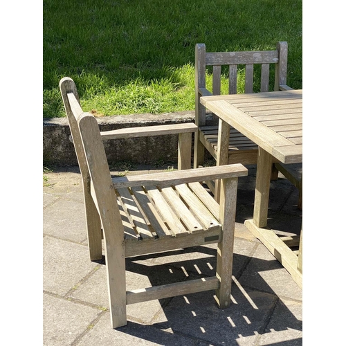
[[[136,114],[97,118],[101,131],[122,127],[168,125],[194,122],[194,111],[177,113]],[[105,140],[109,162],[130,161],[150,163],[158,160],[176,161],[178,135]],[[192,146],[193,149],[193,146]],[[192,153],[193,154],[193,153]],[[78,165],[67,118],[45,118],[43,121],[43,160],[59,166]]]

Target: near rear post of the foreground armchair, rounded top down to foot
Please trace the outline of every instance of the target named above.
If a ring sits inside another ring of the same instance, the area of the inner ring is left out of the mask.
[[[127,323],[124,228],[111,183],[111,174],[98,122],[88,113],[82,113],[78,118],[78,126],[83,147],[87,153],[89,174],[95,186],[104,231],[111,323],[113,328],[116,328]]]

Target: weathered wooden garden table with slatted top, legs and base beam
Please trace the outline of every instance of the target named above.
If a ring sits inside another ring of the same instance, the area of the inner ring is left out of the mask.
[[[253,219],[244,224],[302,287],[302,231],[280,237],[267,227],[273,161],[302,163],[302,90],[204,96],[201,104],[220,119],[220,164],[227,160],[230,126],[258,145]],[[299,251],[291,250],[293,243]]]

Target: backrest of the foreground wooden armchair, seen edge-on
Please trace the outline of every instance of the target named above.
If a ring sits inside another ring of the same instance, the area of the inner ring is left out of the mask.
[[[60,81],[60,91],[82,174],[84,193],[95,196],[105,237],[107,232],[113,231],[107,227],[109,219],[112,219],[118,225],[117,233],[121,244],[122,222],[98,122],[91,113],[83,112],[77,88],[71,78]]]

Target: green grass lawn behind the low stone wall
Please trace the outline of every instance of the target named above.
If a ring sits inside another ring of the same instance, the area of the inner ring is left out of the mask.
[[[197,43],[253,51],[286,41],[287,84],[302,88],[302,0],[44,0],[43,10],[45,118],[65,116],[65,76],[98,116],[192,110]]]

